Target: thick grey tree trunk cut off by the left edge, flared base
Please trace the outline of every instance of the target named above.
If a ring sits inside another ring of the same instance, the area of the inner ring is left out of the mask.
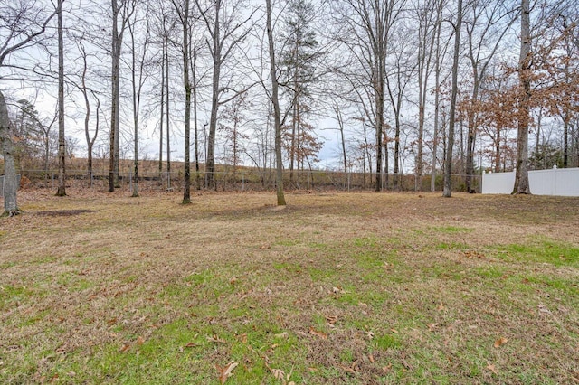
[[[0,145],[4,156],[4,214],[12,215],[18,211],[16,192],[18,180],[16,178],[16,164],[14,163],[14,143],[12,141],[12,127],[8,118],[8,108],[4,95],[0,91]],[[2,188],[2,186],[0,186]]]

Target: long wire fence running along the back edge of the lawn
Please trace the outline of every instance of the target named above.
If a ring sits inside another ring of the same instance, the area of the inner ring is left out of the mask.
[[[57,171],[26,170],[26,187],[51,188],[58,186]],[[116,187],[132,192],[135,178],[131,171],[119,173]],[[466,191],[466,175],[454,174],[452,178],[453,191]],[[284,171],[284,189],[288,191],[374,191],[375,173],[345,173],[338,171]],[[432,183],[433,182],[433,183]],[[67,171],[67,185],[81,189],[102,189],[109,187],[109,172],[95,171]],[[183,191],[184,173],[139,173],[139,191]],[[213,174],[195,170],[190,175],[192,190],[212,190],[220,192],[259,192],[275,189],[275,170],[241,169],[215,172]],[[416,175],[416,174],[382,174],[382,190],[384,191],[442,191],[443,175]],[[471,190],[481,192],[481,175],[473,175]]]

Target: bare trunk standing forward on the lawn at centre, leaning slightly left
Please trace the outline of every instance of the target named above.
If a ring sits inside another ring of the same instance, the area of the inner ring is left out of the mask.
[[[283,163],[281,159],[281,122],[280,122],[280,99],[278,96],[278,78],[276,75],[275,52],[273,51],[273,30],[271,26],[271,0],[265,0],[267,13],[267,30],[270,51],[270,76],[271,76],[271,102],[273,104],[273,119],[275,125],[275,157],[276,157],[276,191],[278,206],[285,206],[286,199],[283,194]]]

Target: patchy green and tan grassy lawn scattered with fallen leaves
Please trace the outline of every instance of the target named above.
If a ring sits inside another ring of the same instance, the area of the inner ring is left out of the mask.
[[[69,193],[0,220],[0,383],[579,383],[579,199]]]

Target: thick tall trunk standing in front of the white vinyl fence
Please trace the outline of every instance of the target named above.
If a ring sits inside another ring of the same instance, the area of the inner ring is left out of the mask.
[[[521,87],[517,127],[517,173],[513,193],[530,194],[528,183],[528,124],[531,98],[531,30],[529,0],[521,0],[521,51],[518,58],[518,80]]]

